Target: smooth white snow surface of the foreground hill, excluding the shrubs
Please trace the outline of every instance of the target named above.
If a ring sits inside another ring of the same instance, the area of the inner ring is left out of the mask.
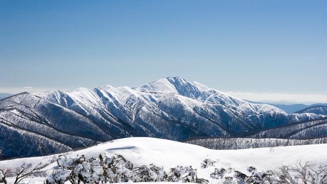
[[[246,173],[248,166],[255,166],[258,170],[275,169],[282,164],[294,164],[301,160],[313,163],[327,163],[327,144],[285,146],[274,148],[255,148],[239,150],[212,150],[201,146],[181,143],[165,139],[134,137],[118,139],[96,146],[68,152],[70,156],[82,155],[97,157],[99,154],[107,156],[123,155],[127,160],[136,165],[154,163],[163,166],[165,170],[177,165],[192,165],[198,170],[198,177],[212,180],[209,177],[214,168],[229,168]],[[201,168],[201,161],[209,158],[217,161],[214,166]],[[16,167],[23,162],[39,163],[48,162],[53,156],[31,157],[14,160],[0,161],[2,167]],[[50,164],[47,169],[56,166]]]

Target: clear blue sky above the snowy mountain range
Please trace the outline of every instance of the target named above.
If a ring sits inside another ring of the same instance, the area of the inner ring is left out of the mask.
[[[327,96],[326,20],[327,1],[3,0],[0,93],[181,76]]]

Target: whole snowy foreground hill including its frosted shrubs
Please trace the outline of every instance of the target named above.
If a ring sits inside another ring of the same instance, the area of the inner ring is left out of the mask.
[[[327,177],[325,147],[326,144],[315,144],[213,150],[165,139],[134,137],[64,154],[0,161],[0,177],[1,182],[9,184],[40,178],[52,184],[321,184]]]

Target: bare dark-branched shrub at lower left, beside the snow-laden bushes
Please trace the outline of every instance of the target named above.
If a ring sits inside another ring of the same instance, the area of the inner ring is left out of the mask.
[[[43,167],[44,166],[41,163],[38,163],[35,166],[33,166],[32,163],[23,163],[20,167],[16,167],[13,170],[13,174],[16,176],[14,184],[19,183],[22,179],[27,178],[28,176],[42,175],[40,169]]]

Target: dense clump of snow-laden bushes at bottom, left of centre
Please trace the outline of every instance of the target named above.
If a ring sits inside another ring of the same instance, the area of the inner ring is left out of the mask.
[[[136,166],[127,161],[122,155],[107,157],[106,155],[94,158],[69,157],[60,155],[57,158],[59,169],[47,181],[51,184],[63,184],[70,181],[72,184],[83,182],[85,184],[113,183],[113,182],[196,182],[208,183],[208,180],[198,178],[196,169],[191,166],[177,166],[171,168],[167,174],[163,167],[154,164]]]

